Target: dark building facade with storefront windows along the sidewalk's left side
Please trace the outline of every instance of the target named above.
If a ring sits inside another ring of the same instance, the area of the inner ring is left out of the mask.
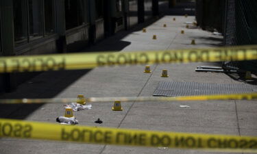
[[[1,56],[79,51],[158,15],[158,0],[1,0],[0,6]],[[22,75],[0,75],[0,91],[14,89]]]

